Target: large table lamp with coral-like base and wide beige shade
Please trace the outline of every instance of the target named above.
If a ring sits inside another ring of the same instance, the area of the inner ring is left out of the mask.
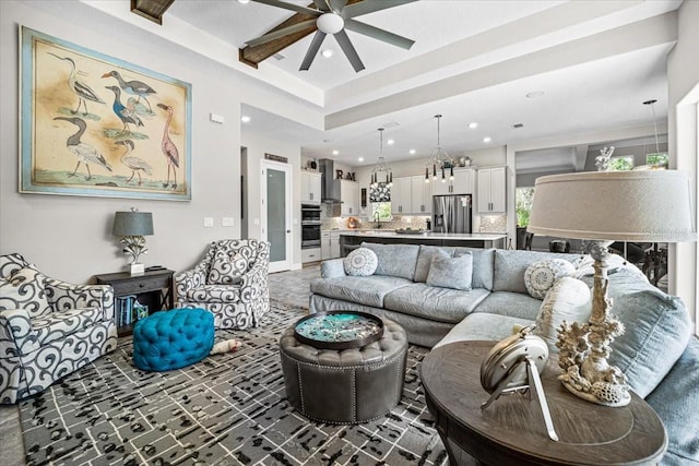
[[[630,401],[626,375],[607,357],[624,324],[611,313],[608,246],[614,241],[697,239],[689,177],[676,170],[591,171],[536,179],[528,230],[590,241],[594,259],[592,314],[559,332],[559,375],[571,393],[606,406]]]

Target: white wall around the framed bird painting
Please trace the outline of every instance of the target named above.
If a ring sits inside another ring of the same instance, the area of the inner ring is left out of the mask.
[[[19,25],[192,85],[191,201],[19,194]],[[146,265],[181,271],[199,260],[209,241],[238,238],[240,103],[263,108],[273,101],[289,111],[295,105],[220,62],[76,1],[0,2],[0,253],[20,252],[45,273],[76,283],[126,268],[111,223],[116,211],[131,206],[153,213],[155,235],[146,238],[150,251],[141,259]],[[210,122],[210,112],[223,115],[225,124]],[[235,226],[222,227],[224,216],[234,217]],[[215,226],[204,228],[203,217],[214,217]]]

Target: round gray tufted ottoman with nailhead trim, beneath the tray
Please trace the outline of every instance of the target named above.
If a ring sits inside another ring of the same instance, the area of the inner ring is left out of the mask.
[[[280,339],[286,397],[304,416],[331,423],[366,422],[393,409],[403,393],[407,337],[383,320],[383,336],[354,349],[299,343],[294,326]]]

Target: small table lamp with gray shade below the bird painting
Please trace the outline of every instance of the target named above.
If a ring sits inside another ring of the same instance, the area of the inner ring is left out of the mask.
[[[118,236],[119,242],[123,244],[123,252],[131,255],[131,275],[142,275],[145,266],[139,263],[139,256],[147,252],[145,246],[146,235],[153,235],[153,214],[150,212],[139,212],[131,207],[130,212],[117,212],[114,216],[114,236]]]

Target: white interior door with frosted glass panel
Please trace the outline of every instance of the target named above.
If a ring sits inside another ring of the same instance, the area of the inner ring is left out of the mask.
[[[262,237],[270,241],[270,272],[292,268],[292,167],[264,160]]]

